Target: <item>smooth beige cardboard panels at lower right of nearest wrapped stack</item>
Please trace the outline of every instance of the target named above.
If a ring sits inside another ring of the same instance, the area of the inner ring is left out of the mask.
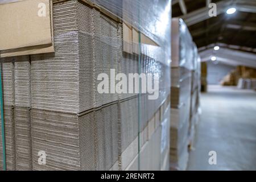
[[[162,111],[161,111],[162,110]],[[140,133],[140,144],[138,147],[136,138],[129,146],[135,148],[137,153],[131,158],[128,152],[123,152],[127,161],[122,164],[125,170],[168,170],[170,154],[170,100],[164,101],[147,126]],[[136,145],[137,144],[137,145]]]

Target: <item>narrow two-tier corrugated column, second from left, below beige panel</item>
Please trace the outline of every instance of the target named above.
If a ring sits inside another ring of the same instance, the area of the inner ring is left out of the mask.
[[[31,170],[31,62],[29,56],[14,60],[16,170]]]

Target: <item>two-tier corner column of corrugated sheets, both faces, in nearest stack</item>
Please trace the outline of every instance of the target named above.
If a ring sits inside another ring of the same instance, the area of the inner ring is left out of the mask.
[[[55,55],[32,61],[40,85],[32,82],[33,168],[108,170],[118,160],[118,137],[110,136],[118,134],[118,97],[98,93],[97,77],[117,71],[118,23],[77,1],[54,4],[53,22]],[[39,151],[48,155],[44,166]]]

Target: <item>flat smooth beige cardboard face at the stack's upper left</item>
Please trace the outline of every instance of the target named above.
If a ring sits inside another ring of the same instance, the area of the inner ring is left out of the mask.
[[[40,17],[39,3],[46,5]],[[49,0],[27,0],[0,5],[0,50],[52,44]]]

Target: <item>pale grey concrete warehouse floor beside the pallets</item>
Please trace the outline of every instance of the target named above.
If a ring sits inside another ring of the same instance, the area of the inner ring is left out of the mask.
[[[256,170],[256,92],[209,86],[188,170]],[[210,165],[209,151],[217,164]]]

